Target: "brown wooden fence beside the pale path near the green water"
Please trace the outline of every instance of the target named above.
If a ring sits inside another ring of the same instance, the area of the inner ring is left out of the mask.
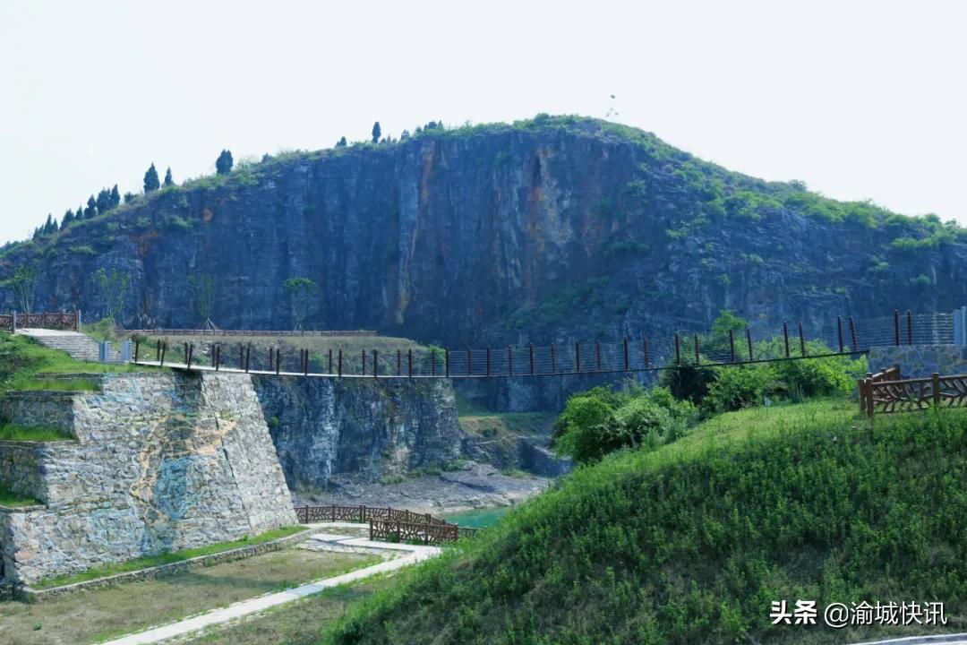
[[[438,544],[455,542],[461,537],[476,536],[480,529],[459,526],[430,513],[413,513],[393,507],[366,506],[297,506],[299,522],[358,522],[369,523],[370,540],[423,542]]]

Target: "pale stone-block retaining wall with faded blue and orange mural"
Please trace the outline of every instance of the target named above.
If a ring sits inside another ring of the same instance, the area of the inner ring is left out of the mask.
[[[8,393],[3,413],[44,425]],[[75,442],[0,442],[0,477],[42,506],[0,513],[19,582],[236,540],[297,523],[258,398],[243,374],[111,374],[51,396]],[[27,476],[25,470],[33,475]],[[8,480],[7,478],[11,478]]]

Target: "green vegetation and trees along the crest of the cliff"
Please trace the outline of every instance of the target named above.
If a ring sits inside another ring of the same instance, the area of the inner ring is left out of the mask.
[[[374,133],[375,133],[374,129]],[[802,182],[766,182],[747,175],[729,171],[715,163],[702,161],[687,152],[678,150],[651,132],[616,123],[574,115],[550,116],[539,114],[533,119],[508,123],[489,123],[481,125],[464,124],[458,127],[445,127],[440,122],[430,122],[418,127],[414,132],[404,131],[396,139],[381,137],[345,143],[340,141],[335,147],[316,151],[282,151],[276,155],[265,155],[261,161],[243,160],[235,163],[231,153],[221,151],[217,162],[218,171],[214,175],[199,177],[176,184],[171,179],[170,168],[163,183],[159,181],[154,163],[145,173],[144,190],[139,193],[128,192],[123,200],[117,186],[108,191],[103,189],[95,197],[92,195],[86,207],[77,208],[77,213],[68,211],[62,221],[47,217],[39,227],[32,241],[8,243],[0,248],[0,259],[16,249],[31,249],[41,253],[53,249],[54,244],[63,245],[65,250],[80,254],[96,254],[97,242],[108,241],[118,232],[128,230],[133,233],[165,229],[190,229],[204,219],[204,214],[184,217],[177,208],[168,209],[161,220],[141,218],[127,221],[124,214],[156,200],[166,200],[168,206],[178,206],[180,199],[190,191],[238,191],[258,185],[263,181],[280,177],[286,164],[295,161],[319,161],[336,159],[344,155],[388,154],[399,146],[411,145],[421,140],[445,138],[470,138],[482,135],[502,135],[508,133],[572,133],[604,140],[628,143],[642,150],[649,161],[641,164],[643,176],[656,171],[670,173],[683,191],[696,196],[698,209],[691,220],[669,231],[674,236],[687,236],[697,227],[706,225],[710,220],[759,220],[764,215],[788,210],[808,218],[832,222],[854,222],[867,228],[886,228],[893,234],[893,241],[887,250],[900,253],[915,252],[919,249],[933,249],[945,242],[963,241],[967,229],[954,221],[941,222],[935,215],[908,217],[898,215],[876,206],[869,201],[842,202],[806,190]],[[507,160],[509,161],[509,160]],[[500,159],[497,162],[501,162]],[[644,193],[648,190],[647,181],[636,179],[629,183],[630,192]],[[188,202],[184,201],[184,208]],[[613,205],[601,203],[602,217],[610,215]],[[70,217],[68,217],[70,214]],[[65,223],[66,221],[66,223]],[[92,245],[92,242],[95,244]],[[626,241],[622,245],[608,249],[609,254],[644,252],[647,245],[637,241]],[[552,303],[549,307],[554,307]]]

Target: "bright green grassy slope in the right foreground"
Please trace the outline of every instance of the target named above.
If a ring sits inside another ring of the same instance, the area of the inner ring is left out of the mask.
[[[944,601],[967,629],[967,415],[819,401],[606,457],[401,575],[324,641],[843,643],[770,603]],[[921,628],[893,628],[912,635]]]

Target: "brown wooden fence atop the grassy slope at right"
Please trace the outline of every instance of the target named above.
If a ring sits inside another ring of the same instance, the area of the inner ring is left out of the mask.
[[[860,409],[867,417],[926,410],[931,407],[967,407],[967,374],[928,378],[900,378],[899,366],[866,374],[860,379]]]

